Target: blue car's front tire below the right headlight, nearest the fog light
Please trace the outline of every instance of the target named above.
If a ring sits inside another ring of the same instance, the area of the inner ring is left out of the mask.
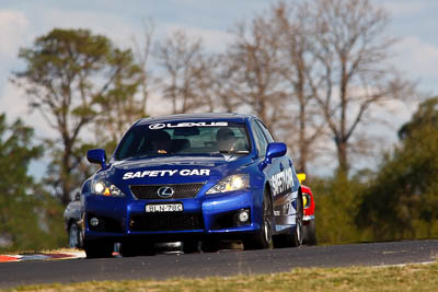
[[[273,203],[269,194],[265,190],[263,195],[263,219],[261,230],[253,236],[243,240],[243,248],[251,249],[265,249],[273,248]]]

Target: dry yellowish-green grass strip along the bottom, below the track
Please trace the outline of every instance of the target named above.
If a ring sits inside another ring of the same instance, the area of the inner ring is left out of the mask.
[[[395,267],[299,268],[290,272],[100,281],[20,287],[15,291],[438,291],[438,262]]]

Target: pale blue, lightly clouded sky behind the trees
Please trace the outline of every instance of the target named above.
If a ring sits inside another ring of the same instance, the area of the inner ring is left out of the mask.
[[[207,49],[221,51],[232,39],[230,30],[239,21],[263,13],[274,0],[0,0],[0,113],[8,120],[21,117],[35,128],[38,138],[54,137],[37,113],[30,113],[27,100],[9,79],[23,68],[18,59],[20,47],[54,27],[89,28],[104,34],[120,47],[131,47],[132,37],[141,38],[143,22],[153,20],[154,38],[163,39],[176,28],[203,37]],[[291,0],[299,2],[299,0]],[[391,15],[387,34],[397,37],[394,63],[405,77],[417,81],[417,89],[428,95],[438,92],[438,1],[372,0]],[[149,108],[160,113],[160,103]],[[394,128],[407,121],[414,105],[397,106]],[[153,115],[152,113],[152,115]],[[394,136],[395,137],[395,136]],[[43,164],[31,172],[43,173]]]

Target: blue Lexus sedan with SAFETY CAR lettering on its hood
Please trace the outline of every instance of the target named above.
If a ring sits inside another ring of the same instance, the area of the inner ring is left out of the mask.
[[[301,244],[302,196],[293,161],[262,120],[241,114],[145,118],[113,156],[87,153],[101,168],[82,185],[88,258],[152,254],[182,242],[184,253]]]

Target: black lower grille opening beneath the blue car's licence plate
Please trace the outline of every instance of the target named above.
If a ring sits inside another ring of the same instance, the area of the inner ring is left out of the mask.
[[[204,230],[199,213],[151,213],[131,215],[131,231],[183,231]]]

